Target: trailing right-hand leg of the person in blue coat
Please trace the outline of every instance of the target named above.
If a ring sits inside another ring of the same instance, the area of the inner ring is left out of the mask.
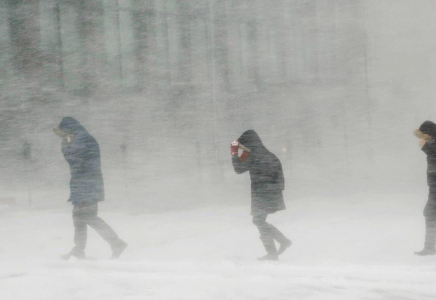
[[[98,205],[93,204],[93,214],[89,216],[87,223],[89,226],[95,229],[97,233],[111,245],[113,251],[113,257],[118,258],[127,244],[121,240],[116,232],[100,217],[98,214]]]

